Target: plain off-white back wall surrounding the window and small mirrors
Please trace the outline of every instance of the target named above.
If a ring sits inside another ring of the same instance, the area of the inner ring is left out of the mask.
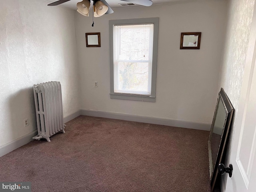
[[[94,19],[76,14],[81,106],[140,116],[211,123],[216,104],[226,1],[193,1],[116,8]],[[159,17],[156,102],[110,99],[109,20]],[[101,47],[86,48],[85,33],[100,32]],[[200,50],[180,50],[181,32],[202,32]],[[98,81],[98,88],[94,88]]]

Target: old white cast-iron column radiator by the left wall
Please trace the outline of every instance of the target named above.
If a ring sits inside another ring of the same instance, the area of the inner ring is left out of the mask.
[[[60,82],[51,81],[34,85],[36,122],[38,135],[33,139],[46,138],[64,131],[63,108]]]

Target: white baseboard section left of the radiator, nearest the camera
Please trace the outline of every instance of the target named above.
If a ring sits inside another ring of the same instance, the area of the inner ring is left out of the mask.
[[[34,140],[32,137],[37,135],[37,130],[30,132],[16,140],[13,140],[10,143],[7,143],[0,147],[0,157],[4,156],[5,154],[10,153],[11,151],[29,143],[30,141]]]

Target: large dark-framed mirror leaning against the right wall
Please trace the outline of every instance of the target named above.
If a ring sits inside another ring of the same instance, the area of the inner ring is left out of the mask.
[[[218,176],[218,165],[222,160],[233,113],[234,108],[223,88],[221,88],[218,94],[208,139],[209,169],[212,191],[214,190]]]

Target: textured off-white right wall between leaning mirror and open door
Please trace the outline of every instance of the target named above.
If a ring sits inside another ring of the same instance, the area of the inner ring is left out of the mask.
[[[229,164],[232,135],[233,132],[236,131],[236,114],[239,110],[238,102],[242,86],[253,8],[254,0],[230,0],[228,2],[228,24],[218,84],[218,91],[221,87],[224,88],[235,109],[226,165]],[[224,189],[227,175],[222,177],[222,179],[222,188]]]

